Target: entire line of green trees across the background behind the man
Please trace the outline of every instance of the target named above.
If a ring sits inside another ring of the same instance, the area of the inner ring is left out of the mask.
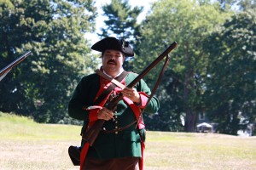
[[[145,114],[149,130],[194,132],[198,115],[236,134],[256,122],[256,8],[254,0],[160,0],[140,24],[142,7],[112,0],[100,37],[129,40],[140,72],[173,41],[178,47],[156,93],[160,111]],[[92,0],[0,0],[0,68],[32,55],[0,82],[0,111],[37,122],[81,123],[67,115],[79,79],[98,67],[90,50],[97,8]],[[145,77],[150,87],[160,66]],[[254,130],[255,133],[255,130]]]

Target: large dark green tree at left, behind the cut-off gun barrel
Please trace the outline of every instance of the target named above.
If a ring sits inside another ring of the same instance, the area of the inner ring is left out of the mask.
[[[1,65],[26,50],[24,60],[0,83],[0,111],[60,122],[79,77],[90,71],[84,32],[94,27],[93,2],[7,0],[0,2]]]

